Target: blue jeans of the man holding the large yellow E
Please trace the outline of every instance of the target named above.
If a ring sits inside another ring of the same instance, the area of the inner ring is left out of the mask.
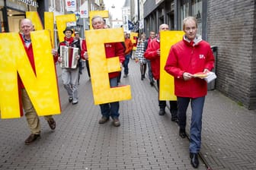
[[[110,79],[110,87],[117,87],[117,77]],[[119,117],[119,102],[110,102],[100,105],[101,115],[106,118],[118,118]]]

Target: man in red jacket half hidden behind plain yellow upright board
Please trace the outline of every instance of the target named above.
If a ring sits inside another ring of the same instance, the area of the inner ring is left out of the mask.
[[[159,32],[169,30],[169,27],[167,24],[162,24],[159,26]],[[160,78],[160,33],[158,33],[158,36],[155,39],[152,39],[152,41],[149,43],[148,48],[146,49],[146,52],[144,53],[145,58],[149,59],[151,62],[151,68],[153,77],[155,78],[157,82],[157,86],[159,89],[159,78]],[[166,101],[158,100],[158,105],[160,108],[159,115],[165,115],[165,107],[166,107]],[[171,112],[171,121],[177,121],[177,101],[170,101],[170,112]]]

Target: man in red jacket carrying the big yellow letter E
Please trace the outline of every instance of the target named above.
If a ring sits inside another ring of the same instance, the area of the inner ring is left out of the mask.
[[[91,18],[91,24],[94,30],[98,29],[104,29],[104,20],[100,16],[94,16]],[[111,58],[115,56],[119,56],[120,63],[123,63],[124,61],[124,48],[121,42],[112,42],[112,43],[105,43],[105,52],[106,57]],[[88,53],[87,53],[87,47],[86,42],[84,41],[82,44],[82,55],[84,55],[85,59],[88,60]],[[117,79],[120,74],[120,71],[116,71],[113,73],[109,73],[109,79],[110,79],[110,87],[117,87]],[[119,102],[110,102],[100,105],[101,108],[101,119],[99,121],[99,124],[106,123],[109,118],[111,117],[113,119],[113,124],[115,127],[120,126],[119,121]]]

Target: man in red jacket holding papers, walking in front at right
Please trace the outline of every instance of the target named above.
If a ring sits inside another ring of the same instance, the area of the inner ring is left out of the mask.
[[[214,57],[208,42],[197,36],[197,20],[187,17],[183,21],[184,37],[171,46],[165,71],[174,76],[174,93],[178,98],[178,124],[180,136],[186,137],[186,112],[191,102],[190,161],[194,168],[199,165],[197,154],[201,145],[203,103],[207,83],[203,78],[194,77],[198,72],[207,73],[213,69]]]

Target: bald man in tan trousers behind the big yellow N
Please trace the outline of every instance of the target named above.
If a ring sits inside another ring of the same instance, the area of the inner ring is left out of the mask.
[[[33,54],[33,48],[32,43],[30,39],[30,32],[34,31],[34,25],[32,24],[31,20],[29,19],[23,19],[21,20],[21,40],[24,44],[24,49],[26,50],[27,57],[30,61],[30,65],[33,68],[34,73],[36,73],[36,68],[34,64],[34,54]],[[30,128],[31,134],[27,139],[25,140],[25,144],[29,145],[30,143],[34,142],[34,140],[37,140],[38,137],[40,137],[40,119],[37,115],[36,110],[34,109],[34,106],[27,95],[27,91],[24,88],[24,84],[21,81],[21,77],[18,77],[18,84],[19,87],[21,87],[21,99],[22,99],[22,105],[25,112],[25,116],[27,118],[27,124]],[[52,115],[46,115],[44,116],[46,121],[48,122],[50,128],[54,130],[56,128],[56,122],[53,119]]]

